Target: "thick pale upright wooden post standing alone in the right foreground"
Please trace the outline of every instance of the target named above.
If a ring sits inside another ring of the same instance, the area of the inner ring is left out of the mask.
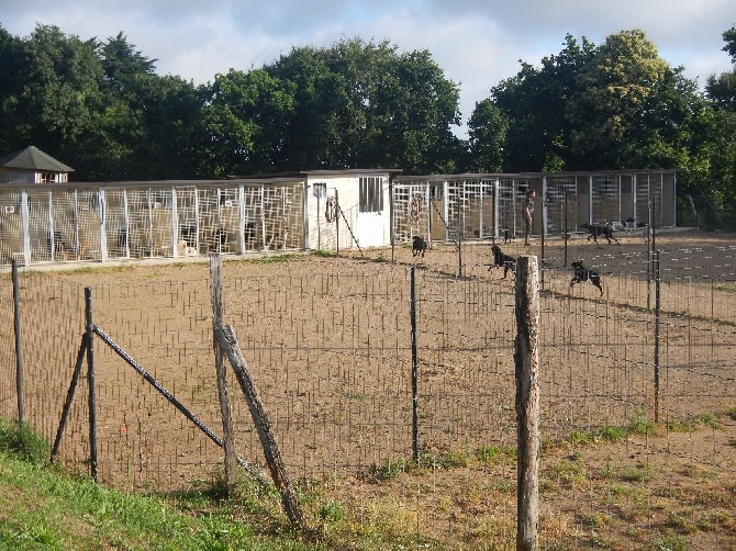
[[[537,549],[539,503],[539,281],[535,256],[516,265],[516,549]]]

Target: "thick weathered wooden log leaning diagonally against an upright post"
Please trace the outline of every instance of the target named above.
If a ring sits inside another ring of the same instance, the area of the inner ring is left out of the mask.
[[[264,456],[266,457],[266,462],[268,463],[268,469],[271,472],[271,477],[276,487],[281,492],[281,504],[283,505],[283,510],[289,517],[289,520],[292,525],[297,526],[303,532],[308,532],[306,521],[302,514],[301,508],[299,507],[299,502],[297,501],[297,494],[289,482],[289,476],[287,475],[286,466],[281,459],[281,452],[279,451],[278,442],[271,430],[271,424],[268,420],[268,415],[266,415],[266,408],[260,402],[260,396],[256,390],[256,385],[253,382],[253,376],[248,370],[248,364],[243,358],[243,352],[241,347],[237,344],[235,337],[235,331],[231,326],[218,327],[214,331],[215,338],[222,346],[230,363],[233,367],[235,372],[235,378],[241,385],[241,390],[245,396],[245,401],[248,404],[248,409],[250,411],[250,416],[253,417],[253,423],[256,426],[258,432],[258,438],[260,443],[264,447]]]

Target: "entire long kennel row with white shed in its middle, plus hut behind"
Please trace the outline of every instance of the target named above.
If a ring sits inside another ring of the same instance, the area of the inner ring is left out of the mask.
[[[156,182],[68,182],[43,155],[0,162],[0,262],[178,258],[211,251],[341,251],[518,235],[527,189],[533,234],[582,223],[676,225],[676,170],[401,176],[398,169]],[[22,151],[21,151],[22,153]],[[14,157],[5,157],[5,159]],[[2,159],[0,159],[1,161]]]

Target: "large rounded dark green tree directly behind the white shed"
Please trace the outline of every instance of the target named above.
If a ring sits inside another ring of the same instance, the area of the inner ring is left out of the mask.
[[[428,52],[344,40],[294,48],[264,69],[294,85],[282,168],[453,167],[459,92]]]

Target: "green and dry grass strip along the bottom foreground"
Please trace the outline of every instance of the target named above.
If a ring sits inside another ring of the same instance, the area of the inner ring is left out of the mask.
[[[694,418],[693,430],[721,426],[718,416]],[[726,537],[724,544],[736,543],[733,483],[699,476],[693,493],[693,481],[681,476],[673,485],[661,465],[648,461],[591,463],[589,453],[615,443],[599,446],[603,435],[622,430],[655,437],[654,427],[638,415],[612,428],[576,432],[573,450],[566,442],[543,452],[540,499],[546,509],[555,504],[540,521],[544,549],[688,549],[690,535],[709,532]],[[337,473],[297,480],[300,505],[314,530],[306,537],[289,526],[278,492],[245,474],[227,498],[218,473],[187,492],[119,492],[49,468],[47,442],[29,427],[0,421],[0,550],[510,548],[515,454],[506,446],[459,447],[423,452],[419,461],[389,461],[358,481]],[[558,510],[571,495],[572,508]],[[441,528],[431,529],[432,522]],[[643,522],[647,529],[640,529]]]

